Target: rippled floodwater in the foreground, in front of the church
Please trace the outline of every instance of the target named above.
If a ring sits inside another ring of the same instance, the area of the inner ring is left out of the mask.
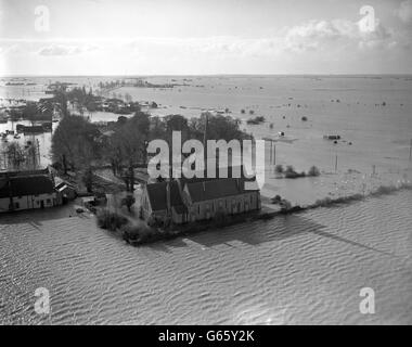
[[[411,206],[405,191],[140,248],[92,217],[1,217],[0,323],[411,324]]]

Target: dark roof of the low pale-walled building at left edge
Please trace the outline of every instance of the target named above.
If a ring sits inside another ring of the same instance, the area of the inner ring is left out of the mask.
[[[0,197],[50,194],[53,192],[53,181],[43,175],[0,180]]]

